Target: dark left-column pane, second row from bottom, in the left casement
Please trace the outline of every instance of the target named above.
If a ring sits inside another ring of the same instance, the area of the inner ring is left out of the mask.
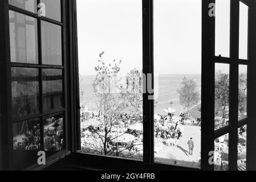
[[[38,69],[11,68],[13,118],[39,113]]]

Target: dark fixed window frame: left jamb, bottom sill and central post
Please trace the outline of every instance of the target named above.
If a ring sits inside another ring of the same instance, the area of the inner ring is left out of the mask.
[[[154,57],[153,57],[153,0],[140,0],[142,1],[142,12],[143,12],[143,73],[152,74],[152,80],[154,80]],[[74,10],[74,21],[76,21],[76,0],[72,3],[72,9]],[[75,55],[73,55],[73,59],[75,60],[76,64],[76,73],[74,76],[76,77],[76,95],[79,96],[79,76],[78,76],[78,42],[77,42],[77,25],[73,24],[73,30],[75,32],[74,37],[75,39]],[[147,81],[145,81],[147,83]],[[148,84],[148,83],[147,83]],[[152,96],[152,94],[148,93],[147,90],[144,90],[143,94],[143,161],[135,160],[135,159],[124,159],[124,158],[117,158],[112,156],[103,156],[103,155],[94,155],[94,154],[84,154],[78,152],[80,150],[80,104],[79,104],[79,97],[76,97],[76,122],[74,127],[75,129],[75,136],[76,138],[76,146],[72,148],[74,152],[73,157],[74,160],[83,161],[84,164],[80,164],[81,166],[86,166],[88,163],[90,164],[90,168],[95,166],[92,163],[100,163],[98,168],[107,168],[109,169],[109,165],[104,165],[111,163],[111,168],[113,169],[120,169],[120,164],[125,163],[127,165],[126,169],[157,169],[157,170],[198,170],[196,168],[188,168],[182,166],[172,166],[167,164],[160,164],[155,163],[155,150],[154,150],[154,100],[148,100],[148,96]],[[147,138],[147,139],[146,139]],[[103,162],[104,161],[104,162]],[[116,164],[116,165],[115,165]],[[117,166],[117,167],[113,167]]]

